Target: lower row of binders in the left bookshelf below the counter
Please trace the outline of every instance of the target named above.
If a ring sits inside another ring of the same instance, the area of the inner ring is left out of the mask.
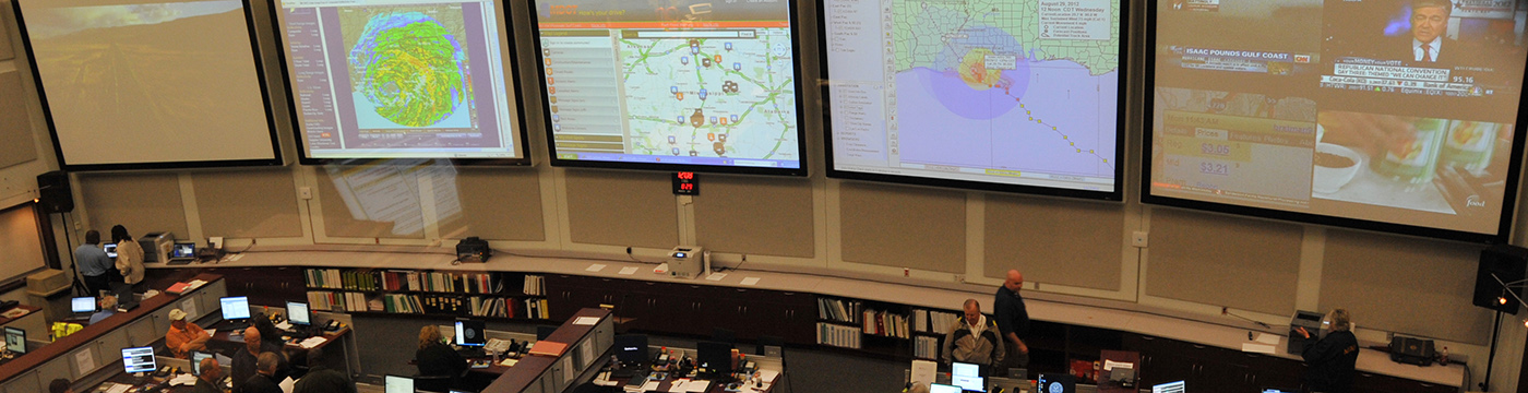
[[[361,292],[307,292],[307,301],[315,310],[330,312],[388,312],[388,313],[431,313],[455,317],[497,317],[497,318],[550,318],[545,298],[497,298],[497,297],[452,297],[452,295],[414,295],[414,294],[380,294],[368,295]]]

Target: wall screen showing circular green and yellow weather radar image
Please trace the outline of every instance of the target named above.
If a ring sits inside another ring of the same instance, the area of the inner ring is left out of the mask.
[[[503,0],[278,0],[303,164],[530,164]]]

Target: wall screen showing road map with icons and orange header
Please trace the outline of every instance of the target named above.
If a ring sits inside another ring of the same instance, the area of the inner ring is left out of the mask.
[[[530,9],[552,165],[807,174],[795,0]]]

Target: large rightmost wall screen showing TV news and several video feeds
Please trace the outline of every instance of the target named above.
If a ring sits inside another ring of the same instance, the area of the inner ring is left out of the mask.
[[[1502,242],[1528,2],[1157,2],[1151,203]]]

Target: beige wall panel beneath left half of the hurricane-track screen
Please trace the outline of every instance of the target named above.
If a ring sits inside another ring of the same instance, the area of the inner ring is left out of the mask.
[[[966,271],[966,193],[843,182],[843,260],[960,274]]]

